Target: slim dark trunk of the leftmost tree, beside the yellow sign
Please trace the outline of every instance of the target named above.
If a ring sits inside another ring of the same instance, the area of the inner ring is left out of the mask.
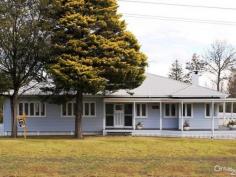
[[[12,119],[12,125],[11,125],[11,137],[16,138],[17,137],[17,93],[14,93],[10,97],[11,102],[11,119]]]

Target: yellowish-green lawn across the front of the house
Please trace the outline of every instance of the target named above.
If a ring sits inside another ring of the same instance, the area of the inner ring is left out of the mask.
[[[0,139],[0,176],[230,176],[236,141],[151,137]]]

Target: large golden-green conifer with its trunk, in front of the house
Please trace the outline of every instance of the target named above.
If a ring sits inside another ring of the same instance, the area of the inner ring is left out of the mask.
[[[74,93],[75,137],[82,138],[84,94],[132,89],[144,80],[146,56],[117,14],[116,0],[55,0],[49,72],[55,90]]]

